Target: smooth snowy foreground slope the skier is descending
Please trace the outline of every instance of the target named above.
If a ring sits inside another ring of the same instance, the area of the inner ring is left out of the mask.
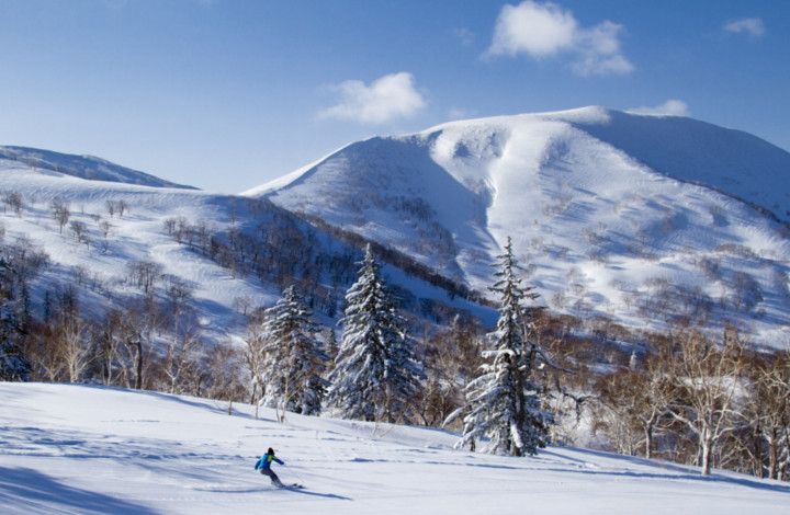
[[[3,514],[786,514],[790,484],[573,448],[452,450],[451,434],[89,386],[0,384]],[[276,490],[253,465],[274,447]]]

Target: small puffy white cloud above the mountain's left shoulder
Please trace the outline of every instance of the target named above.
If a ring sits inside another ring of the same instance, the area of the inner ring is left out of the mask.
[[[320,111],[319,118],[383,124],[414,116],[427,105],[415,87],[414,76],[406,71],[386,75],[370,85],[361,80],[347,80],[332,89],[338,93],[339,101]]]

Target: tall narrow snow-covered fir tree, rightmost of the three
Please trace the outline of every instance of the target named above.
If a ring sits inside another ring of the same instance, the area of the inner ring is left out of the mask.
[[[474,447],[487,440],[482,449],[488,453],[534,455],[546,445],[552,422],[541,405],[543,388],[533,378],[542,350],[530,337],[532,327],[523,306],[537,294],[516,275],[510,238],[498,260],[498,281],[492,290],[499,294],[499,319],[488,335],[490,347],[482,353],[486,359],[482,374],[466,387],[464,430],[458,446]]]

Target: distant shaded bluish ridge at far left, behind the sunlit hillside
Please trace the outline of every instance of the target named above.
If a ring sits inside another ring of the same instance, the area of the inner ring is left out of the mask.
[[[183,186],[165,181],[157,176],[121,167],[93,156],[75,156],[37,148],[0,146],[0,159],[16,161],[37,170],[46,170],[48,172],[72,175],[80,179],[121,182],[140,186],[194,190],[192,186]]]

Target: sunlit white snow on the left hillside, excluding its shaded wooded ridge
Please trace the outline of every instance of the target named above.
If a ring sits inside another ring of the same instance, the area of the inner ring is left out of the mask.
[[[113,182],[87,181],[69,175],[50,175],[25,164],[0,160],[2,190],[18,192],[25,198],[22,216],[10,210],[0,214],[5,240],[25,237],[43,249],[52,260],[36,281],[41,306],[45,289],[57,284],[76,285],[74,276],[88,271],[90,281],[99,287],[83,287],[79,291],[80,306],[89,314],[101,316],[114,304],[124,305],[126,296],[136,295],[136,288],[125,282],[127,265],[133,261],[154,261],[163,273],[178,276],[195,288],[196,318],[210,340],[244,333],[244,320],[233,309],[236,297],[250,296],[259,305],[273,304],[275,288],[232,274],[212,261],[191,252],[185,245],[167,236],[162,221],[167,217],[183,216],[190,220],[211,220],[215,227],[229,221],[230,205],[227,198],[198,191],[145,187]],[[70,203],[71,220],[83,221],[94,244],[80,244],[68,231],[58,230],[49,203],[60,198]],[[123,218],[110,217],[106,201],[125,201],[128,214]],[[102,240],[98,221],[111,224],[109,248],[99,250]]]

